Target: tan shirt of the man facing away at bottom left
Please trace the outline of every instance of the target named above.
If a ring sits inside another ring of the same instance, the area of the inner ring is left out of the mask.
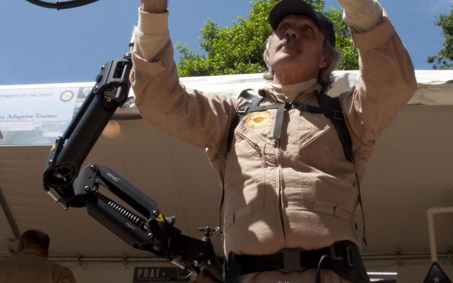
[[[39,251],[24,249],[0,259],[1,283],[75,283],[66,267],[46,259]]]

